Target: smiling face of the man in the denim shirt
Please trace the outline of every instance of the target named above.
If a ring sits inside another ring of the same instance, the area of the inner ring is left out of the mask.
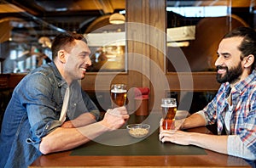
[[[84,79],[86,70],[90,67],[90,49],[81,40],[75,40],[70,51],[65,51],[66,64],[64,65],[64,78],[68,83]]]

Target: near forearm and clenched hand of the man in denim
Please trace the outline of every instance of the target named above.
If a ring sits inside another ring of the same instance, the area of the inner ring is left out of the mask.
[[[114,115],[113,115],[114,114]],[[108,109],[103,120],[77,128],[58,127],[42,138],[39,150],[43,154],[63,151],[78,147],[104,132],[113,131],[125,124],[129,119],[125,107]]]

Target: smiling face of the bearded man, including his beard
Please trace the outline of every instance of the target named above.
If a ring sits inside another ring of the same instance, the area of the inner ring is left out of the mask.
[[[217,67],[217,81],[230,84],[241,80],[243,73],[243,61],[241,51],[238,49],[243,38],[240,36],[224,38],[218,46],[218,59],[215,62]]]

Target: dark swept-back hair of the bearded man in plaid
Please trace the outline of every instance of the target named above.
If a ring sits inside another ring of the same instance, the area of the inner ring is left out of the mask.
[[[230,31],[224,36],[224,38],[230,38],[234,36],[241,36],[243,40],[238,47],[241,51],[241,60],[247,57],[249,54],[253,54],[254,62],[252,64],[252,69],[255,69],[255,59],[256,59],[256,31],[250,27],[238,27],[233,31]]]

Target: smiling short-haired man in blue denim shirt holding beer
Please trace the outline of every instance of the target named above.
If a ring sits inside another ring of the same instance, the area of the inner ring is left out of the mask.
[[[90,66],[84,36],[61,33],[52,44],[53,62],[33,70],[15,87],[0,136],[0,167],[27,167],[42,154],[78,147],[118,129],[129,118],[125,107],[100,112],[82,91],[80,79]],[[60,120],[69,89],[66,120]],[[112,113],[119,115],[112,115]]]

